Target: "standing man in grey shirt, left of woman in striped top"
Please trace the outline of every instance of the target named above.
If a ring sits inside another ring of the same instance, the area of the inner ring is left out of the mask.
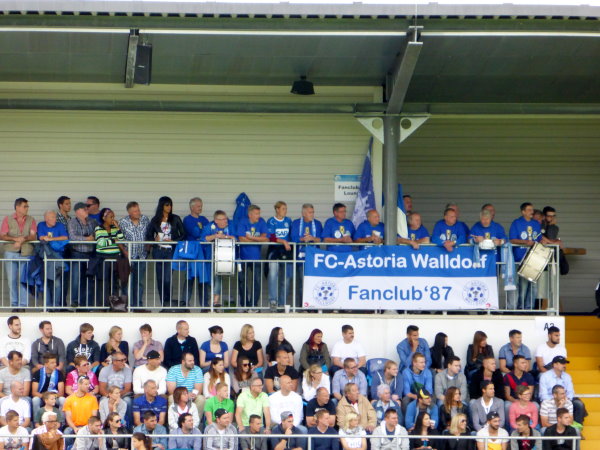
[[[85,203],[75,203],[75,217],[67,223],[69,240],[94,241],[94,229],[98,222],[88,217]],[[71,263],[71,307],[86,307],[88,301],[94,298],[94,283],[87,279],[87,269],[90,258],[94,255],[94,246],[88,244],[71,244],[70,255],[78,260]],[[67,360],[69,358],[67,352]],[[71,360],[72,361],[72,360]]]

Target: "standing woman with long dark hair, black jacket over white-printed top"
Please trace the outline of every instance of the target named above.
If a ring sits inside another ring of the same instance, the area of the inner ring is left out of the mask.
[[[169,197],[158,199],[156,213],[148,225],[146,240],[156,242],[174,242],[183,240],[185,235],[181,218],[173,214],[173,200]],[[173,259],[175,246],[171,244],[154,245],[152,258]],[[156,263],[156,284],[163,308],[171,306],[171,263]],[[176,306],[176,305],[174,305]]]

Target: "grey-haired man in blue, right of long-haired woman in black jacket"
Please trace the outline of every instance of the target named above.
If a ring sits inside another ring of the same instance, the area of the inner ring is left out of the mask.
[[[183,219],[183,229],[185,230],[185,240],[186,241],[200,241],[202,238],[202,231],[208,225],[208,219],[202,216],[202,207],[203,202],[200,197],[194,197],[190,200],[190,214],[185,216]],[[199,259],[207,259],[204,253],[204,250],[209,247],[208,245],[201,245],[200,252],[198,255]],[[185,263],[184,268],[187,264],[194,263]],[[201,264],[202,270],[200,274],[197,274],[198,277],[198,303],[200,306],[206,308],[209,305],[209,297],[210,297],[210,265],[208,263]],[[188,306],[190,298],[194,293],[194,278],[185,277],[185,282],[183,283],[183,288],[181,292],[181,306]]]

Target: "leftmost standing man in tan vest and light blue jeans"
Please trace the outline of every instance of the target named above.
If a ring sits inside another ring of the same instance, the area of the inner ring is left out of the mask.
[[[24,312],[29,294],[27,287],[20,282],[21,268],[24,261],[33,254],[33,246],[29,241],[36,239],[37,225],[29,214],[29,202],[19,197],[15,200],[15,212],[6,216],[0,225],[0,240],[9,241],[4,244],[4,258],[12,261],[4,262],[4,270],[8,278],[10,305],[13,312]]]

